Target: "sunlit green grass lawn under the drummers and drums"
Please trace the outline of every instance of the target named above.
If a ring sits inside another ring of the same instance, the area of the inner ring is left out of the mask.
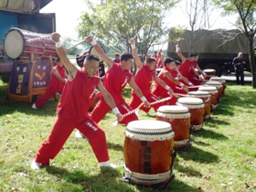
[[[57,102],[50,100],[35,111],[31,103],[5,101],[6,89],[7,84],[0,82],[0,191],[158,191],[120,181],[126,127],[113,127],[112,113],[100,126],[111,162],[119,168],[101,170],[90,144],[75,138],[74,131],[51,166],[31,170],[30,163],[55,122]],[[129,88],[124,95],[130,101]],[[255,95],[251,86],[228,84],[212,118],[191,133],[192,146],[177,153],[175,177],[162,191],[256,191]],[[140,112],[139,117],[155,120],[155,112]]]

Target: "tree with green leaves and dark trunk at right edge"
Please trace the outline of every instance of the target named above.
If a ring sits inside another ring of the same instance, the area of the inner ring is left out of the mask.
[[[236,26],[246,35],[249,42],[249,62],[251,65],[252,88],[256,88],[256,65],[253,40],[256,34],[256,1],[255,0],[214,0],[227,15],[238,13]]]

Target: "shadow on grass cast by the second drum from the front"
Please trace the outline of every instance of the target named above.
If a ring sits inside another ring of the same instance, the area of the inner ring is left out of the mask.
[[[213,155],[202,149],[198,149],[193,144],[189,147],[187,152],[178,152],[177,155],[180,155],[184,158],[184,160],[192,160],[197,161],[202,164],[211,164],[219,162],[219,157],[217,155]]]

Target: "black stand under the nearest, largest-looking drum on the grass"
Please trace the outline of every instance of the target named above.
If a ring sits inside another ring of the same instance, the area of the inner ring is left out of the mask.
[[[170,173],[170,177],[163,182],[156,183],[156,184],[136,183],[133,181],[133,176],[123,176],[120,180],[129,184],[137,185],[141,187],[152,187],[154,189],[164,189],[169,184],[169,182],[175,177],[175,173],[173,171],[175,157],[176,157],[176,151],[174,150],[172,154],[172,163],[171,163],[172,170]]]

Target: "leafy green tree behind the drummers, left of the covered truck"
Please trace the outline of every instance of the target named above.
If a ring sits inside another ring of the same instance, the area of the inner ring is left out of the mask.
[[[136,37],[136,47],[142,57],[159,38],[166,36],[165,12],[178,0],[101,0],[96,5],[86,0],[90,11],[80,16],[81,37],[92,33],[118,52],[131,50],[129,40]]]

